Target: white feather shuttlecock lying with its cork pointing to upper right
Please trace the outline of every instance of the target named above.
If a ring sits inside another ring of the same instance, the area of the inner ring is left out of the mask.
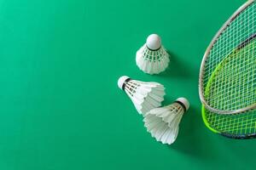
[[[147,131],[157,141],[172,144],[177,138],[178,125],[183,113],[188,109],[189,101],[185,98],[178,98],[171,105],[148,111],[143,122],[145,122]]]

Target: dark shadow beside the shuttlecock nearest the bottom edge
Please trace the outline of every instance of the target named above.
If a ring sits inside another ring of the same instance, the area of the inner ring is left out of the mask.
[[[188,115],[186,115],[188,114]],[[201,111],[193,106],[190,106],[189,111],[184,114],[177,140],[169,147],[172,150],[178,150],[186,155],[199,156],[205,159],[212,159],[218,153],[212,150],[211,139],[207,139],[203,122],[201,122]],[[211,148],[211,150],[209,150]]]

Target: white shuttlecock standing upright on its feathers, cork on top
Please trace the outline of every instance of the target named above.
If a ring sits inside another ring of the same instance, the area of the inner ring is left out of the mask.
[[[169,61],[169,54],[161,45],[161,39],[157,34],[148,36],[147,42],[136,54],[137,66],[148,74],[158,74],[165,71]]]

